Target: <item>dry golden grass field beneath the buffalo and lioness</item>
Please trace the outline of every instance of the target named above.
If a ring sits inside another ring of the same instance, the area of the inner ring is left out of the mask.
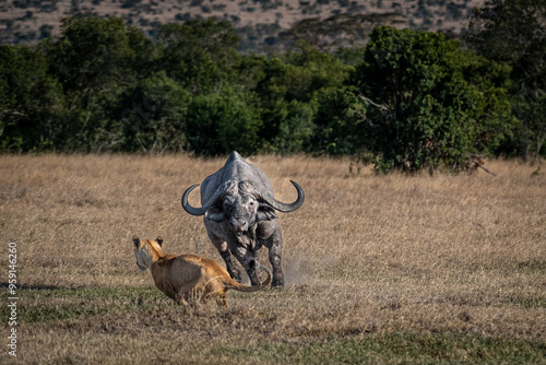
[[[139,271],[131,237],[222,262],[180,196],[224,160],[0,156],[0,363],[546,363],[546,173],[494,161],[497,176],[352,176],[348,160],[251,161],[278,199],[295,199],[289,179],[306,190],[281,214],[286,286],[185,309]]]

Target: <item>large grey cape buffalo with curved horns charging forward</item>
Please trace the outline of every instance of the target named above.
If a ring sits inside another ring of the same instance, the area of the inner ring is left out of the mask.
[[[298,192],[296,201],[284,203],[276,200],[268,176],[233,152],[224,167],[203,180],[201,208],[188,203],[188,196],[199,184],[183,192],[183,209],[190,214],[203,215],[209,238],[226,262],[233,279],[241,280],[232,262],[232,254],[247,271],[252,285],[259,285],[260,279],[252,263],[258,261],[260,249],[265,246],[273,268],[271,286],[284,285],[281,268],[283,236],[275,210],[293,212],[305,200],[304,189],[290,182]]]

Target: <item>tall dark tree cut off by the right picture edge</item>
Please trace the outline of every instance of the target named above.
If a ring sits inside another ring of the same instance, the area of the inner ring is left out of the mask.
[[[499,152],[536,162],[546,153],[546,0],[491,0],[476,9],[465,36],[482,56],[511,67],[509,92],[521,120]]]

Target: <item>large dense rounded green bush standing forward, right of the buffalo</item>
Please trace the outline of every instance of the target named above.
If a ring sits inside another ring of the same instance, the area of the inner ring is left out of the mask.
[[[458,170],[510,130],[506,91],[465,78],[471,56],[458,43],[393,27],[370,37],[352,80],[367,101],[377,169]]]

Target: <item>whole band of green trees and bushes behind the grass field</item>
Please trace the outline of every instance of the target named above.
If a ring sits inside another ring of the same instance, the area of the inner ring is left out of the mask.
[[[539,11],[514,12],[545,1],[494,1],[464,44],[380,26],[335,55],[240,54],[215,19],[151,40],[121,19],[68,17],[57,38],[0,46],[0,151],[358,155],[382,172],[538,158],[545,30]],[[507,28],[518,46],[499,49]]]

